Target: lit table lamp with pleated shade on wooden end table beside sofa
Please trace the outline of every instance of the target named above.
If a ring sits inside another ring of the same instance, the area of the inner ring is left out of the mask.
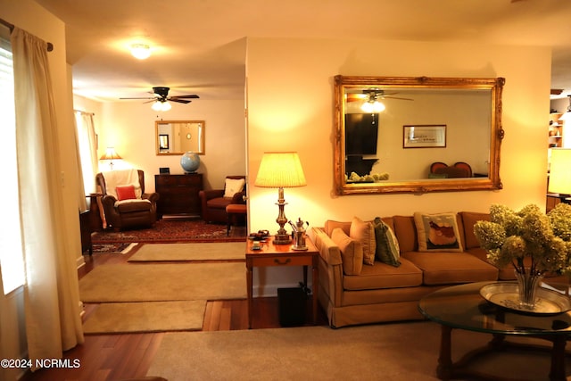
[[[294,152],[269,152],[261,157],[260,169],[254,182],[255,186],[277,188],[278,214],[276,222],[279,225],[274,244],[290,244],[292,237],[285,231],[287,223],[284,206],[284,188],[306,186],[302,162]]]

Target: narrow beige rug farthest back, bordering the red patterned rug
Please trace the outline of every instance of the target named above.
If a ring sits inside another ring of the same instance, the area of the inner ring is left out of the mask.
[[[128,261],[245,260],[244,242],[201,244],[143,244]]]

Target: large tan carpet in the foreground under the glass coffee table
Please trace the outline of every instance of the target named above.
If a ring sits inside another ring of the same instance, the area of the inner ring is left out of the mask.
[[[453,359],[490,338],[455,330]],[[440,326],[431,322],[168,333],[147,375],[169,381],[436,380],[439,344]],[[497,353],[480,359],[477,369],[547,380],[549,357],[531,353]]]

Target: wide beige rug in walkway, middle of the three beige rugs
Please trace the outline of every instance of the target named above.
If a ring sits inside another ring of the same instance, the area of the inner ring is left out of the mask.
[[[79,279],[82,302],[245,299],[245,265],[230,263],[101,265]]]

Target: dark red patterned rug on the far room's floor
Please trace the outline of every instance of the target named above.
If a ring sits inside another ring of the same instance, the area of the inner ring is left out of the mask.
[[[234,232],[243,234],[236,236]],[[153,228],[125,231],[95,232],[91,238],[95,244],[113,242],[174,243],[174,242],[245,242],[245,229],[233,229],[227,236],[226,225],[207,224],[203,220],[159,219]]]

